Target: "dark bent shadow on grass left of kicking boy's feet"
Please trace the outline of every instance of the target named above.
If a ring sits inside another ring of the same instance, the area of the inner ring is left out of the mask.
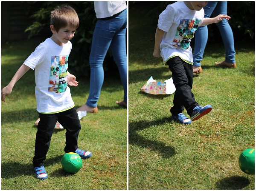
[[[172,146],[167,146],[165,143],[160,141],[148,140],[145,137],[139,135],[137,131],[144,128],[149,128],[153,125],[164,124],[166,122],[171,122],[170,117],[164,117],[160,120],[154,121],[139,121],[134,123],[129,123],[129,144],[138,145],[142,148],[149,148],[151,151],[157,151],[163,158],[170,158],[175,155],[175,148]]]

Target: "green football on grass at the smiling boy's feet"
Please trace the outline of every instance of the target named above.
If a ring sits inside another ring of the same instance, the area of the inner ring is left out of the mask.
[[[61,158],[61,165],[64,171],[76,173],[82,168],[83,162],[79,154],[66,153]]]

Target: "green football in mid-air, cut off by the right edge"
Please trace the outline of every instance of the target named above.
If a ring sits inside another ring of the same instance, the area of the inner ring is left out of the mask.
[[[254,148],[244,150],[239,157],[239,167],[246,174],[254,174]]]

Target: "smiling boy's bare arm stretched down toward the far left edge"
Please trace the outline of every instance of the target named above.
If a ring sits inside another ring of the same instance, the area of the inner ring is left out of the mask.
[[[12,78],[11,82],[2,89],[2,101],[5,102],[5,97],[7,95],[10,95],[12,93],[12,88],[15,85],[15,83],[20,80],[20,78],[27,72],[29,71],[29,66],[26,66],[25,64],[23,64],[22,66],[20,66],[20,68],[18,69],[18,71],[16,72],[16,74],[14,75],[14,77]]]

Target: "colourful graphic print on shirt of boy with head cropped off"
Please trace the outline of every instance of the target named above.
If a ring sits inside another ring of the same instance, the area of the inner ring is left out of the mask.
[[[175,48],[189,48],[190,41],[194,37],[199,22],[200,20],[198,19],[181,19],[172,46]]]

